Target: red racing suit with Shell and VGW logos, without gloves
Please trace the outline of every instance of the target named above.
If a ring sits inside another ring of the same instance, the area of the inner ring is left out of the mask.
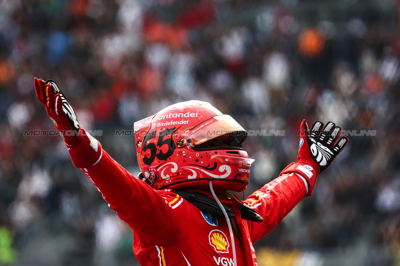
[[[102,150],[100,143],[96,152],[91,148],[81,149],[83,145],[87,146],[80,143],[69,149],[72,162],[94,183],[108,206],[134,230],[133,251],[141,265],[233,266],[232,244],[225,219],[202,213],[170,189],[153,189],[113,160]],[[90,161],[95,163],[84,167],[88,161],[84,158],[91,158]],[[258,265],[252,243],[271,231],[301,199],[311,194],[315,177],[306,178],[306,183],[302,175],[281,173],[246,199],[245,202],[264,221],[256,223],[242,219],[240,212],[230,219],[235,229],[238,265]],[[208,196],[213,198],[211,194]],[[232,210],[238,209],[223,195],[218,198]]]

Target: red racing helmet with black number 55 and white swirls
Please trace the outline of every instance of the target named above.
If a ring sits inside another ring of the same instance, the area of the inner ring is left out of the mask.
[[[208,102],[191,100],[164,108],[134,124],[140,178],[154,189],[240,192],[249,183],[248,134]]]

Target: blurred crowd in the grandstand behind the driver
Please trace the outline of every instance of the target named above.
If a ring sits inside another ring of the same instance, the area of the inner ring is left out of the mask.
[[[246,196],[296,160],[303,118],[336,122],[348,146],[255,244],[258,265],[400,265],[399,14],[388,0],[0,0],[0,265],[138,265],[62,138],[24,136],[54,129],[34,77],[135,176],[134,138],[115,130],[175,102],[285,130],[244,144]]]

